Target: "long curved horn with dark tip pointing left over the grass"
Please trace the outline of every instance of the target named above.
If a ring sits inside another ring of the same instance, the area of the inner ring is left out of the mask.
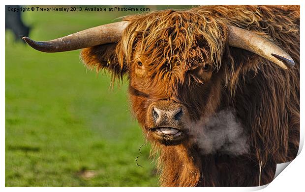
[[[104,24],[51,41],[36,42],[25,36],[22,39],[30,47],[42,52],[62,52],[117,42],[127,25],[128,22]]]

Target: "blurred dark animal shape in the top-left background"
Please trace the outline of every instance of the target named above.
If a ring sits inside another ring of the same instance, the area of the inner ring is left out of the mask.
[[[30,27],[25,25],[21,19],[21,11],[8,11],[11,9],[21,8],[20,5],[5,5],[5,30],[11,29],[15,35],[15,41],[25,43],[19,36],[29,36]]]

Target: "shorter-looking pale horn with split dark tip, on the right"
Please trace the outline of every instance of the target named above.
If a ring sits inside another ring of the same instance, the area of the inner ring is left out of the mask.
[[[282,48],[254,32],[228,25],[228,44],[258,54],[283,69],[294,67],[294,61]]]

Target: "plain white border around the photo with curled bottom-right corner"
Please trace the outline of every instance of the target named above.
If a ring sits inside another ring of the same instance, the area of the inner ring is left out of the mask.
[[[3,1],[1,1],[3,2]],[[4,144],[5,144],[5,130],[4,130],[4,123],[5,123],[5,119],[4,119],[4,114],[5,114],[5,67],[4,67],[4,63],[5,63],[5,58],[4,58],[4,48],[5,48],[5,33],[4,33],[4,5],[5,4],[46,4],[45,2],[47,2],[47,4],[49,4],[48,1],[41,1],[41,0],[28,0],[28,1],[22,1],[22,0],[10,0],[10,1],[4,1],[2,7],[1,7],[1,27],[2,30],[0,31],[1,35],[0,35],[0,40],[1,40],[1,51],[0,51],[0,59],[1,59],[1,71],[0,71],[0,90],[1,90],[1,103],[0,103],[0,108],[1,108],[1,119],[0,119],[0,123],[1,123],[1,134],[0,134],[0,188],[4,188],[4,182],[5,182],[5,177],[4,177],[4,168],[5,168],[5,164],[4,164]],[[164,1],[164,0],[153,0],[153,1],[139,1],[139,0],[111,0],[111,1],[92,1],[92,0],[86,0],[86,1],[81,1],[81,0],[73,0],[73,1],[63,1],[63,0],[52,0],[52,4],[105,4],[105,5],[116,5],[116,4],[301,4],[301,31],[304,27],[304,17],[303,17],[303,13],[304,13],[304,2],[302,0],[213,0],[213,1],[207,1],[207,0],[168,0],[168,1]],[[301,50],[303,50],[304,48],[304,38],[303,35],[301,33]],[[301,52],[301,51],[300,51]],[[18,54],[18,53],[16,53]],[[303,54],[301,54],[301,61],[304,60],[304,56]],[[301,74],[304,74],[304,67],[301,67]],[[302,78],[301,75],[301,101],[303,101],[304,99],[304,78]],[[301,141],[300,141],[300,151],[303,148],[303,144],[304,144],[304,120],[302,119],[302,114],[304,114],[304,106],[301,102]],[[300,152],[299,151],[299,152]],[[288,166],[288,168],[286,168],[285,170],[283,170],[282,173],[279,174],[278,177],[276,177],[274,179],[273,182],[271,182],[271,184],[266,187],[264,189],[264,191],[270,191],[270,192],[274,192],[274,191],[289,191],[289,190],[293,190],[293,191],[300,191],[300,189],[304,189],[304,171],[305,171],[305,166],[304,166],[304,162],[305,162],[305,155],[304,152],[301,153],[300,155],[298,155],[298,157],[293,160],[291,162],[291,164]],[[69,188],[70,189],[70,188]],[[54,190],[67,190],[66,188],[58,188],[58,189],[53,189],[53,188],[44,188],[44,189],[40,189],[40,188],[23,188],[23,189],[19,189],[19,188],[5,188],[5,190],[7,191],[14,191],[14,190],[23,190],[23,191],[41,191],[41,190],[45,190],[45,191],[54,191]],[[100,190],[105,190],[105,191],[112,191],[112,190],[124,190],[124,191],[153,191],[155,190],[154,188],[73,188],[71,189],[73,191],[83,191],[83,190],[90,190],[90,191],[98,191],[100,192]],[[191,188],[191,189],[185,189],[185,188],[158,188],[158,190],[160,191],[168,191],[168,190],[175,190],[175,192],[179,192],[182,191],[184,192],[184,190],[205,190],[205,191],[255,191],[258,190],[258,187],[256,188],[205,188],[205,189],[201,189],[201,188]]]

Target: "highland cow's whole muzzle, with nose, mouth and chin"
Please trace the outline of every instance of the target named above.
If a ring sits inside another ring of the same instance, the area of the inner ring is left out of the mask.
[[[161,144],[180,144],[187,135],[187,114],[187,109],[182,104],[170,100],[153,102],[147,110],[146,129]]]

